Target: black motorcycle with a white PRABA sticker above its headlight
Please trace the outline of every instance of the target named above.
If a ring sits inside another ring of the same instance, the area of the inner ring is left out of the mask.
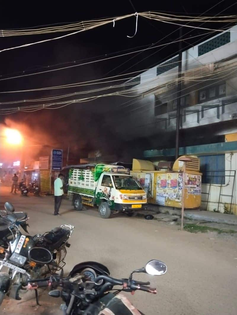
[[[7,250],[0,247],[5,254],[0,260],[0,271],[3,266],[9,270],[8,273],[0,272],[0,305],[7,292],[10,297],[20,300],[19,290],[24,288],[28,279],[54,275],[63,270],[66,247],[71,246],[67,241],[74,230],[74,226],[64,224],[42,235],[30,236],[20,233],[15,218],[8,222],[15,235]]]

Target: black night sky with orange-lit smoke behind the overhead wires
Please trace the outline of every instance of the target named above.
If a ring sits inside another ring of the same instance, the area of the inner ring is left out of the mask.
[[[206,10],[210,9],[217,2],[216,1],[136,1],[136,0],[120,0],[120,1],[83,1],[72,2],[67,1],[60,4],[55,2],[50,5],[50,2],[37,2],[26,5],[24,2],[20,4],[9,3],[9,5],[2,6],[0,28],[26,28],[41,25],[48,25],[54,23],[71,23],[81,20],[91,20],[102,17],[112,17],[124,14],[131,14],[142,11],[169,11],[174,13],[192,15],[200,15]],[[205,15],[215,15],[221,11],[223,14],[233,14],[234,1],[222,1],[213,9],[209,10]],[[225,10],[226,9],[226,10]],[[197,24],[195,24],[198,26]],[[205,27],[224,27],[221,24],[208,25]],[[232,25],[230,25],[232,26]],[[55,64],[65,63],[62,66],[70,66],[74,61],[81,63],[91,60],[97,60],[107,56],[126,53],[123,50],[132,49],[138,50],[149,47],[159,41],[161,43],[169,43],[179,37],[178,26],[168,25],[162,22],[149,21],[147,19],[138,17],[138,31],[135,37],[127,38],[127,35],[133,35],[135,31],[135,17],[116,22],[115,28],[112,24],[98,27],[97,29],[85,31],[63,39],[33,45],[31,47],[14,49],[7,52],[2,52],[0,59],[0,74],[2,78],[23,73],[31,73],[54,69],[51,67]],[[174,32],[173,32],[174,31]],[[163,39],[169,33],[171,35]],[[189,32],[187,36],[185,34]],[[195,36],[206,31],[192,30],[183,28],[183,36]],[[0,48],[8,48],[24,43],[31,43],[46,38],[52,38],[63,35],[64,33],[37,35],[37,36],[18,36],[18,37],[1,37]],[[213,36],[210,35],[210,37]],[[197,40],[204,40],[206,38],[189,39],[183,43],[183,49],[190,47]],[[132,51],[131,50],[131,51]],[[159,51],[158,51],[159,50]],[[133,54],[125,57],[115,58],[110,61],[102,61],[86,66],[79,66],[68,70],[61,70],[57,72],[49,72],[47,74],[39,74],[31,77],[22,77],[17,79],[0,81],[0,91],[11,91],[19,89],[41,88],[47,86],[55,86],[62,84],[69,84],[74,82],[82,82],[87,80],[99,79],[102,77],[109,77],[121,73],[138,71],[149,68],[153,65],[159,64],[161,61],[172,57],[178,50],[178,43],[166,46],[165,49],[152,49],[141,54]],[[89,59],[90,58],[90,59]],[[131,58],[131,60],[129,60]],[[145,59],[144,59],[145,58]],[[143,60],[144,59],[144,60]],[[81,61],[80,61],[81,60]],[[122,63],[124,63],[122,65]],[[115,69],[116,68],[116,69]],[[130,68],[130,69],[128,69]],[[1,101],[14,101],[50,95],[58,95],[62,93],[74,92],[78,89],[64,89],[53,91],[37,91],[14,94],[1,94]],[[91,140],[93,136],[100,133],[104,146],[109,141],[108,132],[101,131],[100,121],[100,106],[108,105],[110,100],[108,98],[101,101],[92,101],[87,103],[80,103],[78,105],[70,105],[64,109],[54,111],[38,111],[37,114],[17,113],[9,115],[8,118],[13,121],[24,123],[32,130],[32,135],[38,135],[43,132],[49,136],[49,143],[62,142],[61,147],[64,148],[65,142],[68,139],[73,143],[72,154],[77,158],[82,157],[88,150],[97,149],[96,145]],[[24,104],[25,105],[25,104]],[[9,106],[9,105],[8,105]],[[15,105],[12,105],[15,106]],[[4,123],[4,118],[0,116],[0,122]],[[110,133],[111,135],[111,133]],[[39,139],[37,141],[40,142]],[[56,142],[55,142],[56,141]],[[119,142],[119,139],[117,139]],[[116,149],[110,146],[110,150]],[[84,152],[84,153],[82,153]]]

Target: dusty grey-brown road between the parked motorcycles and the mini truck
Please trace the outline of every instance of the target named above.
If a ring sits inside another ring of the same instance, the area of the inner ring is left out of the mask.
[[[137,274],[134,278],[150,281],[157,295],[137,291],[128,295],[145,314],[211,315],[237,314],[237,244],[234,239],[215,234],[181,232],[178,226],[143,218],[115,215],[101,219],[96,209],[73,210],[63,200],[60,213],[53,216],[53,197],[21,197],[0,190],[0,209],[10,201],[16,211],[30,217],[31,235],[45,232],[61,224],[75,226],[71,247],[66,256],[65,272],[81,261],[99,261],[108,266],[113,277],[127,278],[129,273],[159,259],[168,266],[163,276]],[[26,299],[27,300],[27,299]],[[1,314],[59,314],[60,299],[44,294],[42,306],[34,300],[6,300]],[[34,307],[32,307],[34,306]]]

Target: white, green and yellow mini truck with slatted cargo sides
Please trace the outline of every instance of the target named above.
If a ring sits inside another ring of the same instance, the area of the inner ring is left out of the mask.
[[[83,204],[96,205],[104,219],[118,212],[132,216],[135,210],[146,208],[146,192],[123,166],[97,164],[92,169],[70,169],[68,185],[76,210],[82,210]]]

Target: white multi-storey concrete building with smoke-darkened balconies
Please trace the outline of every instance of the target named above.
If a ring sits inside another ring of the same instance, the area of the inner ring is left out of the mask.
[[[181,82],[179,154],[200,158],[203,208],[237,213],[237,26],[183,51]],[[134,97],[121,104],[120,132],[152,139],[147,160],[174,160],[177,83],[178,54],[124,88]]]

